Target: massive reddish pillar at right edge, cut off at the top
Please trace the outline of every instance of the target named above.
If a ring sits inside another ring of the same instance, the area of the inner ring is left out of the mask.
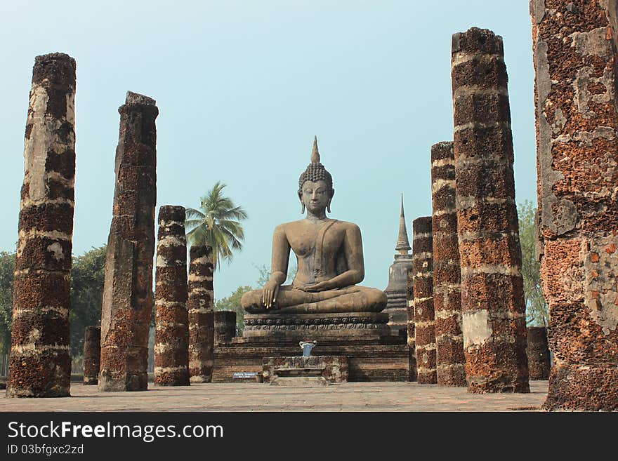
[[[532,0],[545,408],[618,410],[615,0]]]

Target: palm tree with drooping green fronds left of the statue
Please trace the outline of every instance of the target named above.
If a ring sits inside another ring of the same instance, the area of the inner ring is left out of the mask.
[[[185,216],[190,245],[211,246],[215,268],[219,260],[232,259],[232,250],[242,249],[244,229],[240,221],[247,217],[246,211],[223,196],[223,187],[225,184],[217,181],[202,197],[199,209],[187,208]]]

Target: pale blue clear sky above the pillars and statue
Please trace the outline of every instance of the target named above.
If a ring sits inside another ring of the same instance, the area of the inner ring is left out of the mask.
[[[107,241],[117,108],[131,90],[159,107],[157,210],[198,206],[221,180],[249,213],[216,298],[253,284],[275,225],[301,218],[313,135],[334,178],[331,217],[360,226],[362,284],[383,289],[400,193],[410,237],[431,212],[429,149],[452,140],[451,36],[473,26],[504,38],[516,200],[535,201],[527,0],[3,1],[0,250],[17,241],[34,56],[61,51],[77,60],[74,253]]]

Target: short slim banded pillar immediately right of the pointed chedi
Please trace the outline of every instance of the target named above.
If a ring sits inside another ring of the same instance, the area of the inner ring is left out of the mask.
[[[435,329],[433,315],[433,243],[431,217],[412,222],[412,269],[414,270],[414,342],[416,381],[435,384]]]

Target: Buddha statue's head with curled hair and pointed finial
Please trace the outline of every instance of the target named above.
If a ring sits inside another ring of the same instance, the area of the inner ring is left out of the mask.
[[[305,207],[311,213],[320,213],[326,208],[331,212],[331,200],[335,194],[333,177],[320,163],[320,152],[317,152],[317,136],[313,138],[311,163],[301,177],[298,178],[298,199],[300,199],[305,213]]]

